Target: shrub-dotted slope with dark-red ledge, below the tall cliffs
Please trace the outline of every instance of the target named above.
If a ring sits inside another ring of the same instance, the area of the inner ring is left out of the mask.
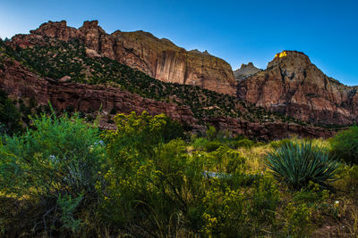
[[[13,42],[0,44],[0,88],[13,98],[33,97],[42,105],[51,102],[60,111],[81,111],[89,118],[100,110],[102,128],[113,127],[112,111],[147,110],[153,115],[166,113],[196,132],[203,133],[209,124],[265,141],[334,133],[254,107],[234,96],[200,86],[162,82],[107,57],[89,57],[87,46],[79,41],[66,43],[55,37],[41,40],[42,45],[24,48],[6,46]],[[34,80],[33,75],[40,79]]]

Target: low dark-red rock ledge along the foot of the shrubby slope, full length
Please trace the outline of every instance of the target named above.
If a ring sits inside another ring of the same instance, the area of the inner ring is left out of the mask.
[[[1,55],[0,55],[1,56]],[[41,78],[32,73],[21,63],[13,60],[0,62],[0,88],[4,89],[12,97],[33,97],[38,104],[47,105],[50,102],[59,110],[71,107],[76,111],[98,111],[108,114],[115,109],[117,113],[131,113],[135,111],[149,111],[156,115],[166,113],[172,119],[179,120],[190,126],[193,130],[204,131],[205,126],[198,124],[192,111],[187,106],[178,106],[174,103],[164,103],[143,98],[137,94],[130,94],[113,86],[90,86],[75,84],[66,80],[57,81],[51,78]],[[234,134],[242,134],[260,140],[272,140],[299,135],[304,137],[328,137],[333,132],[320,127],[303,127],[294,123],[266,122],[256,123],[243,119],[230,117],[214,117],[204,119],[204,124],[209,123],[217,129],[227,129]],[[103,128],[114,128],[114,125],[101,121]]]

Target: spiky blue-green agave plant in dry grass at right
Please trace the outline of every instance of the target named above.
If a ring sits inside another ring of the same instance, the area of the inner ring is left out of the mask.
[[[327,186],[334,180],[339,164],[329,158],[328,152],[311,141],[289,142],[275,151],[268,152],[266,164],[278,179],[294,189],[310,182]]]

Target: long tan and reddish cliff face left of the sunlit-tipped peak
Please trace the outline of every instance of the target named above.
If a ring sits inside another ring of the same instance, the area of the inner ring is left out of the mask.
[[[13,37],[12,44],[22,48],[41,45],[46,43],[45,37],[65,42],[79,39],[91,50],[90,57],[98,53],[165,82],[202,86],[222,94],[236,92],[233,71],[222,59],[207,52],[186,51],[144,31],[117,30],[109,35],[98,21],[85,21],[80,29],[67,27],[66,21],[49,21],[31,30],[30,35]]]

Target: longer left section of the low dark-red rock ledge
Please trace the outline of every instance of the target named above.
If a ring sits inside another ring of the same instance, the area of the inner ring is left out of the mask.
[[[34,98],[39,105],[51,103],[56,109],[68,107],[76,111],[118,113],[149,111],[152,115],[165,113],[172,119],[195,125],[197,119],[187,106],[164,103],[130,94],[113,86],[90,86],[41,78],[21,66],[19,62],[6,61],[0,69],[0,88],[8,94],[21,98]]]

